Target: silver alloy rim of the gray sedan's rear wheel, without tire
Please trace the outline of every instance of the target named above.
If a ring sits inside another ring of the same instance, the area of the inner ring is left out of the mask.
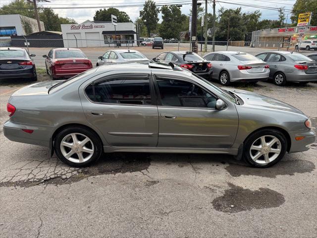
[[[95,148],[88,136],[81,133],[71,133],[61,140],[60,151],[70,162],[84,163],[91,159]]]

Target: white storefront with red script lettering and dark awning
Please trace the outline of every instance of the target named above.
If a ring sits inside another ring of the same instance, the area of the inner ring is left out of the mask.
[[[121,46],[137,45],[135,24],[84,21],[81,24],[61,24],[64,47],[105,47],[117,42]]]

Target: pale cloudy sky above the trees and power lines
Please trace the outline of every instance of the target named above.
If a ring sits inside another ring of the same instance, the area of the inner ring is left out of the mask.
[[[7,4],[12,0],[0,0],[0,6],[3,4]],[[47,7],[71,7],[71,6],[80,6],[84,8],[80,9],[54,9],[59,16],[62,17],[69,17],[75,19],[77,23],[82,23],[85,20],[93,20],[96,10],[99,8],[87,8],[91,6],[109,6],[109,7],[116,7],[119,5],[129,5],[128,7],[117,7],[120,11],[125,11],[134,21],[139,16],[139,11],[143,9],[143,6],[131,6],[131,5],[143,5],[145,0],[50,0],[51,2],[39,2],[39,5],[47,6]],[[202,0],[201,0],[202,1]],[[264,7],[285,7],[285,9],[292,9],[293,4],[296,0],[216,0],[216,12],[219,8],[237,8],[239,5],[228,4],[224,2],[232,2],[236,4],[253,4],[258,6]],[[188,15],[190,13],[191,0],[155,0],[158,4],[166,3],[166,2],[174,2],[182,4],[181,11],[182,13]],[[212,0],[208,1],[208,12],[212,12]],[[205,5],[205,0],[203,4]],[[276,20],[278,19],[278,12],[276,10],[270,9],[261,9],[257,7],[250,7],[250,6],[241,6],[242,12],[252,12],[259,9],[262,12],[262,19],[270,19]],[[289,12],[285,12],[285,16],[287,16],[287,23],[290,23],[290,16]],[[159,18],[160,15],[159,15]],[[160,19],[161,21],[161,19]],[[286,22],[286,20],[285,20]]]

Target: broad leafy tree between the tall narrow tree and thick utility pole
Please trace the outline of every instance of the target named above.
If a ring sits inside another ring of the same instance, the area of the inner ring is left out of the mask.
[[[162,38],[179,38],[182,22],[186,16],[176,5],[164,5],[161,8],[162,22],[159,26],[159,36]]]

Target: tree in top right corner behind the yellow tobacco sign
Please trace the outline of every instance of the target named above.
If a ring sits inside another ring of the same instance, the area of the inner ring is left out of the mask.
[[[317,25],[317,0],[296,0],[293,5],[291,20],[294,26],[297,25],[298,15],[304,12],[313,11],[311,26]]]

